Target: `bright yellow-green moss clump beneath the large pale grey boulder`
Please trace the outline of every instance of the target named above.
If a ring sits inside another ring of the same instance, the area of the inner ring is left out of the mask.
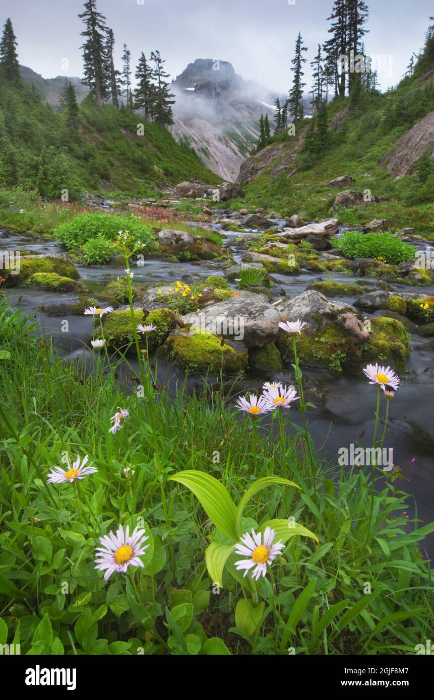
[[[247,367],[247,349],[237,352],[211,333],[179,333],[165,342],[168,356],[183,370],[241,372]]]

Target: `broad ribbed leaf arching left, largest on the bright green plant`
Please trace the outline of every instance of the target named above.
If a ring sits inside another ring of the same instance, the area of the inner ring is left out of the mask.
[[[237,510],[223,484],[205,472],[186,470],[171,477],[193,491],[212,524],[233,540],[237,539]]]

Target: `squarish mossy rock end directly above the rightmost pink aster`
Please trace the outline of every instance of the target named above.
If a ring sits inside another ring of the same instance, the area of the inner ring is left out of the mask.
[[[362,346],[363,357],[368,360],[393,362],[405,367],[409,356],[409,335],[396,318],[374,316],[370,319],[369,340]]]

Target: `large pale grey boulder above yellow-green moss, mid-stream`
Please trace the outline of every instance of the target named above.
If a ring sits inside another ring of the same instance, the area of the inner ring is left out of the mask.
[[[263,295],[238,292],[230,299],[182,316],[191,330],[212,332],[242,341],[247,347],[263,347],[278,338],[280,313]]]

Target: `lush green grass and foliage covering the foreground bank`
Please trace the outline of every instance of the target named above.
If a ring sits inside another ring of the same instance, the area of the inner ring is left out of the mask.
[[[184,385],[170,395],[146,361],[139,386],[134,371],[126,387],[116,381],[116,358],[108,371],[95,360],[86,374],[36,342],[5,301],[0,323],[2,642],[15,640],[21,653],[287,657],[290,649],[414,654],[430,638],[433,584],[418,542],[434,525],[405,518],[399,474],[374,486],[375,469],[325,461],[290,412],[274,416],[272,432],[257,416],[237,415],[222,387],[188,395]],[[374,409],[374,390],[372,401]],[[130,418],[112,436],[118,406]],[[50,468],[76,454],[88,454],[97,472],[78,487],[47,484]],[[186,485],[169,480],[182,470],[215,477],[228,495],[219,491],[210,510],[187,477]],[[227,499],[238,507],[264,477],[240,531],[280,519],[285,540],[293,523],[319,543],[290,537],[257,588],[234,577],[230,563],[217,586],[205,548],[210,538],[217,546],[233,540],[214,526],[230,534],[221,524],[233,512]],[[146,528],[145,568],[104,582],[95,546],[118,524]],[[251,610],[261,615],[253,627]]]

